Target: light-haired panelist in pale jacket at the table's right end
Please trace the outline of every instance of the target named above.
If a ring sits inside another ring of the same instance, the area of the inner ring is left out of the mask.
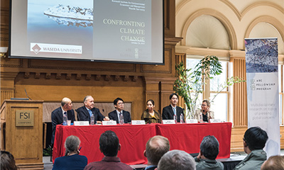
[[[198,109],[195,111],[195,119],[197,119],[198,122],[209,122],[210,119],[214,119],[214,112],[210,111],[210,101],[203,100],[201,109]],[[200,119],[202,120],[200,121]]]

